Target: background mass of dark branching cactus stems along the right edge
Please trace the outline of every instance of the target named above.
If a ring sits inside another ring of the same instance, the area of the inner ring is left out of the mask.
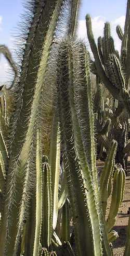
[[[87,36],[94,55],[94,61],[90,60],[90,66],[91,71],[96,75],[97,86],[94,110],[98,135],[98,157],[102,157],[103,151],[108,151],[110,142],[114,139],[118,142],[115,161],[120,163],[125,170],[129,153],[129,8],[129,1],[127,1],[124,33],[120,26],[116,28],[122,41],[121,53],[114,47],[109,23],[105,23],[103,37],[98,38],[96,45],[90,16],[86,16]],[[106,99],[101,92],[102,86],[109,91],[109,107],[105,107]]]

